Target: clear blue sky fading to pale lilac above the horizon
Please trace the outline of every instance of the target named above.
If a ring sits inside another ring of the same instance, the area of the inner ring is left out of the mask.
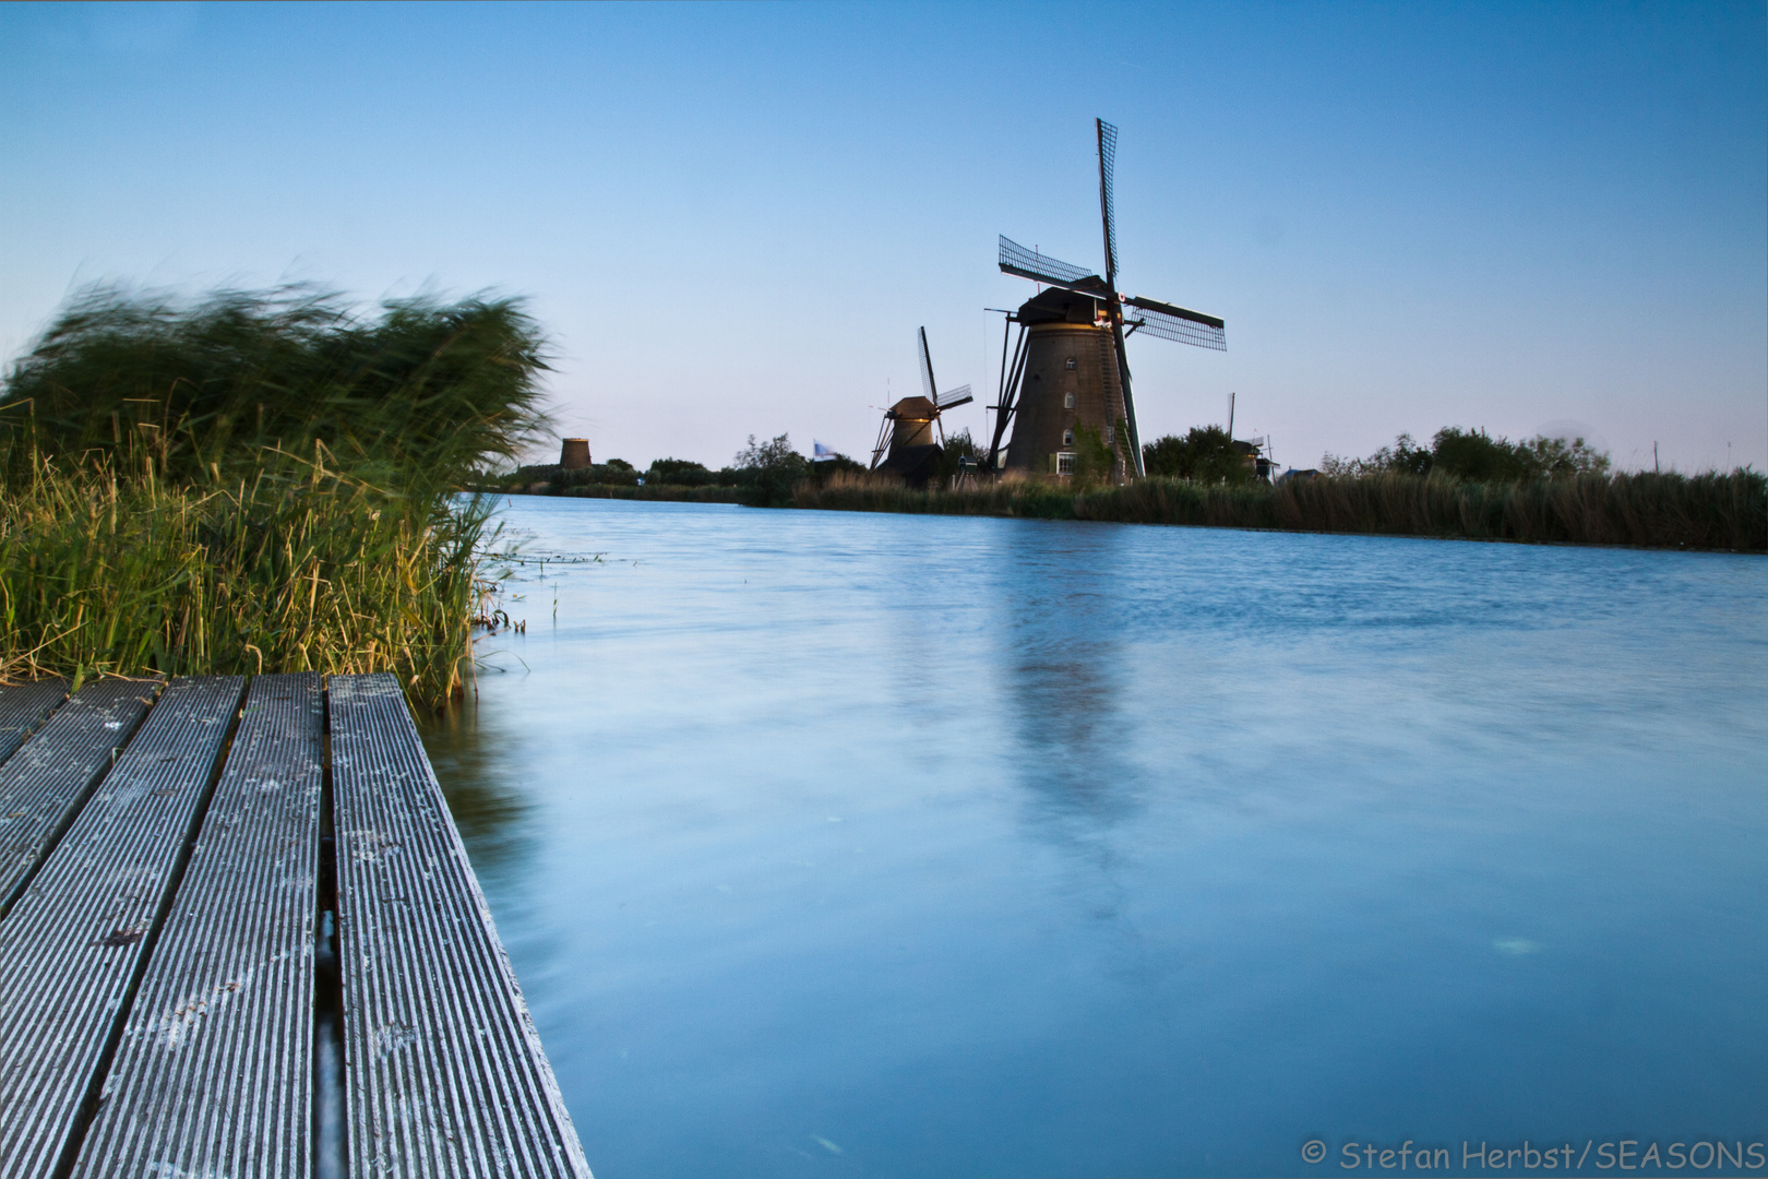
[[[0,5],[0,350],[80,286],[522,293],[598,458],[994,391],[995,233],[1227,318],[1142,437],[1768,467],[1761,4]],[[981,433],[976,405],[951,424]]]

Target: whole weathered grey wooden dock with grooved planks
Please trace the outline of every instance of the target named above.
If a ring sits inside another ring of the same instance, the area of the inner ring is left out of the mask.
[[[0,1175],[589,1179],[391,675],[0,688]]]

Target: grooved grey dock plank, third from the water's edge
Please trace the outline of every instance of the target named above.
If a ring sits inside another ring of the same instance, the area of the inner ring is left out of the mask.
[[[51,1175],[97,1096],[242,691],[173,681],[0,923],[7,1179]]]

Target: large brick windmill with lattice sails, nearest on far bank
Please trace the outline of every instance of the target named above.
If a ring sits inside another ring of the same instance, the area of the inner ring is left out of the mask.
[[[1135,428],[1124,338],[1144,331],[1181,345],[1227,350],[1223,325],[1216,316],[1117,293],[1117,212],[1112,200],[1117,127],[1103,118],[1094,122],[1105,276],[1001,239],[1001,269],[1050,290],[1008,313],[988,470],[1068,474],[1075,467],[1077,445],[1084,440],[1080,433],[1093,430],[1116,456],[1116,479],[1140,475],[1142,440]],[[1013,323],[1018,323],[1018,341],[1010,364],[1006,346]],[[1013,424],[1013,437],[1002,458],[1001,437],[1008,422]]]

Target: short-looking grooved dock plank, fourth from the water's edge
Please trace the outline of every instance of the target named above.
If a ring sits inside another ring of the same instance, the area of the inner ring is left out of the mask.
[[[147,716],[157,681],[87,684],[0,765],[0,914]]]

